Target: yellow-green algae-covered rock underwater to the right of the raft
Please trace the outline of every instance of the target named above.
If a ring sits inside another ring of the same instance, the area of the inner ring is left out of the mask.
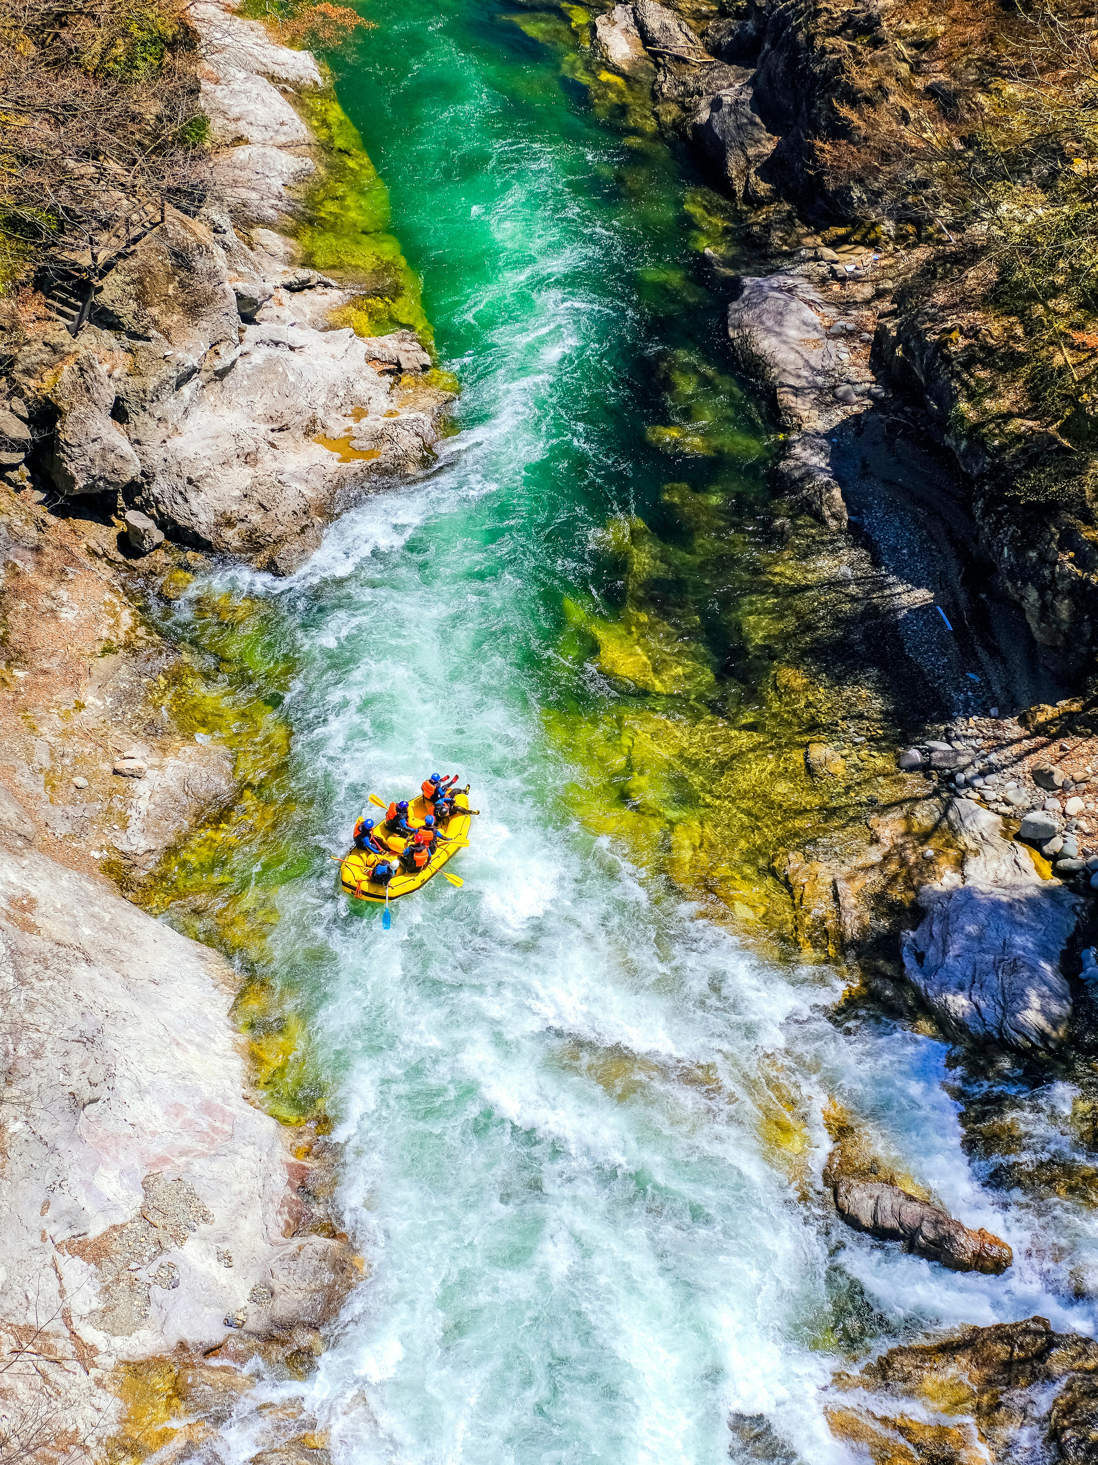
[[[635,517],[612,522],[599,539],[622,567],[616,617],[578,596],[564,601],[561,649],[615,693],[545,713],[575,769],[565,800],[589,829],[710,914],[757,938],[804,938],[786,856],[820,837],[865,842],[867,801],[906,793],[902,781],[889,793],[895,765],[870,743],[849,766],[836,759],[837,776],[826,779],[811,775],[805,752],[852,718],[880,735],[880,702],[868,686],[770,659],[783,643],[795,655],[817,628],[811,557],[779,549],[755,557],[745,576],[751,546],[719,488],[671,483],[663,502],[679,542],[660,541]],[[745,677],[720,675],[704,624],[720,585],[739,593],[717,612],[716,640],[739,646]],[[799,946],[833,955],[813,941]]]

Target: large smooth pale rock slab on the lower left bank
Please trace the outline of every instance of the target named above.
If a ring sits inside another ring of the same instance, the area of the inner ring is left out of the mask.
[[[362,1263],[296,1234],[309,1166],[250,1100],[231,968],[23,841],[0,851],[0,984],[6,1411],[47,1358],[47,1433],[105,1437],[127,1362],[319,1340]]]

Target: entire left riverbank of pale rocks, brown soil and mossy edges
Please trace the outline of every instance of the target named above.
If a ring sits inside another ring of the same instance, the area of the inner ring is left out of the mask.
[[[211,555],[290,573],[430,460],[454,396],[329,82],[233,10],[189,7],[203,207],[127,242],[75,334],[34,293],[1,322],[0,1327],[4,1439],[28,1458],[186,1456],[249,1361],[305,1377],[367,1270],[316,1105],[293,1128],[264,1112],[278,1021],[246,1047],[242,970],[117,894],[149,904],[284,757],[274,703],[233,696],[154,607]],[[341,226],[318,218],[348,168],[370,227],[350,193]],[[280,1459],[324,1444],[291,1399],[258,1424]]]

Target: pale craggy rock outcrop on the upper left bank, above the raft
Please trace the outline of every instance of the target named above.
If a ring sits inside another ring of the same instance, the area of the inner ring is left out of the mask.
[[[61,494],[105,495],[177,542],[288,573],[338,505],[430,460],[452,398],[423,382],[430,357],[410,333],[334,330],[353,292],[303,270],[288,240],[240,237],[297,207],[272,160],[312,171],[316,145],[280,86],[321,76],[307,53],[212,0],[193,19],[233,220],[167,208],[105,277],[75,340],[60,322],[28,327],[10,388],[37,428],[31,466]],[[261,202],[225,176],[247,149]]]

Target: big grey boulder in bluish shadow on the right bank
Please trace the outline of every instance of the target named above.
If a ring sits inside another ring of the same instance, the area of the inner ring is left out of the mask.
[[[919,891],[927,911],[903,939],[903,970],[947,1031],[1048,1052],[1067,1037],[1072,993],[1060,971],[1079,900],[1042,880],[998,815],[953,800],[949,825],[963,875]]]

